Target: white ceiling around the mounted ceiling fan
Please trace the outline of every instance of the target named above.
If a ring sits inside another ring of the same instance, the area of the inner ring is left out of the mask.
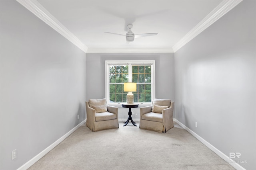
[[[222,0],[37,0],[36,3],[44,14],[54,18],[55,25],[61,25],[73,38],[78,38],[87,52],[100,49],[172,52],[172,47],[185,35],[210,18],[221,3],[221,7],[225,4]],[[124,36],[104,33],[126,34],[128,24],[133,25],[135,34],[158,35],[126,43]]]

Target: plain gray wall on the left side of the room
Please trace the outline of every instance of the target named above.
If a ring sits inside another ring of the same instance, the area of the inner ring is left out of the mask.
[[[14,170],[85,119],[86,54],[18,2],[0,3],[0,169]]]

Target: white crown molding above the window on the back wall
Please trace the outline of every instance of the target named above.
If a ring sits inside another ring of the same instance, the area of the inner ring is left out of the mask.
[[[89,48],[86,53],[174,53],[170,49]]]

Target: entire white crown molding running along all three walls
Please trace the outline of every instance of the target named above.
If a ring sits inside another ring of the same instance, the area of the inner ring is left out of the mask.
[[[85,53],[175,53],[186,43],[220,19],[232,8],[238,5],[242,0],[223,0],[212,12],[210,12],[202,21],[191,29],[180,41],[170,49],[118,49],[118,48],[89,48],[82,43],[74,34],[72,34],[60,21],[58,21],[50,12],[48,12],[37,0],[16,0],[38,18],[76,45]]]

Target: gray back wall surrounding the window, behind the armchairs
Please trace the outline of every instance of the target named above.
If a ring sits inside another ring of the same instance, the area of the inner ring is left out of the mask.
[[[174,53],[87,53],[86,100],[105,98],[106,60],[155,60],[156,98],[174,101]],[[132,118],[139,119],[139,108]],[[128,109],[120,107],[118,118],[127,119]]]

